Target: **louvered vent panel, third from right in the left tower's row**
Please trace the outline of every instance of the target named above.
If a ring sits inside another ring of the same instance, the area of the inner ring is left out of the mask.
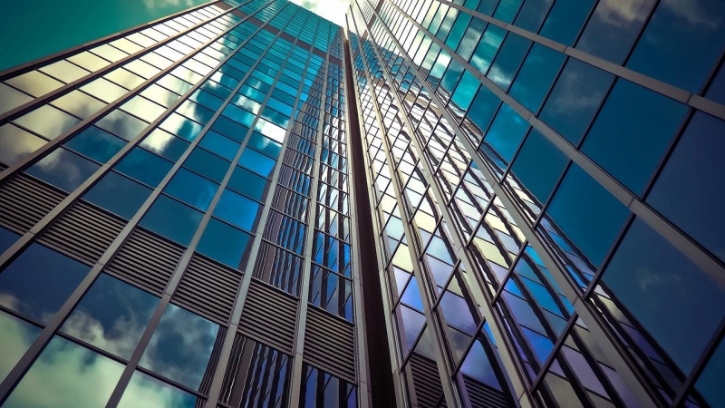
[[[239,272],[195,254],[172,302],[227,325],[241,281]]]

